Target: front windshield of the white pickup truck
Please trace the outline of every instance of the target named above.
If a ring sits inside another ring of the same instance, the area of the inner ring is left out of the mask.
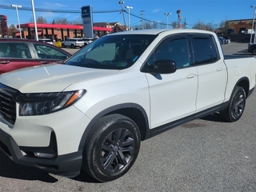
[[[97,69],[122,70],[134,64],[156,35],[106,35],[74,54],[64,64]]]

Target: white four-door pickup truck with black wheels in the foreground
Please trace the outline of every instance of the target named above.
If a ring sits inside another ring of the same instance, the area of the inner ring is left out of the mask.
[[[238,121],[255,63],[224,57],[205,30],[106,35],[66,61],[0,76],[0,147],[22,165],[108,182],[142,140],[208,114]]]

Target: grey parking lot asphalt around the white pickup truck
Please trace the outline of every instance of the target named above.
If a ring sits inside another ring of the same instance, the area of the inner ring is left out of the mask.
[[[222,47],[225,54],[251,55],[244,43]],[[210,115],[142,142],[134,166],[113,182],[47,174],[0,151],[0,191],[256,191],[255,105],[256,91],[238,122]]]

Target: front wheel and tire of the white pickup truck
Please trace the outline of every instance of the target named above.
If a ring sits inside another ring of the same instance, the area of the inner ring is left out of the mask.
[[[138,126],[130,118],[121,114],[102,117],[85,146],[82,168],[100,182],[120,178],[138,157],[140,141]]]

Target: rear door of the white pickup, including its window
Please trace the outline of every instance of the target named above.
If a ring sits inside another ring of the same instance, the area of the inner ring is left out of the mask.
[[[217,106],[224,101],[227,72],[212,35],[192,35],[191,39],[194,50],[194,66],[198,70],[196,108],[199,112]]]

